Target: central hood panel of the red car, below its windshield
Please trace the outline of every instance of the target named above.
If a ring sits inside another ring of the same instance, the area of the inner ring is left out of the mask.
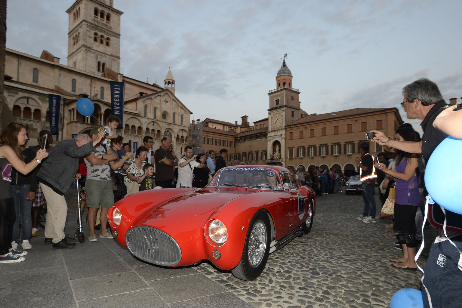
[[[164,201],[163,204],[156,206],[156,210],[172,210],[198,216],[249,193],[255,192],[229,188],[223,190],[201,189]]]

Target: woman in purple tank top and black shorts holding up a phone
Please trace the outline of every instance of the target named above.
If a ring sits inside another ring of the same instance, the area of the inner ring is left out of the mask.
[[[395,138],[400,141],[419,141],[412,127],[398,128]],[[377,163],[375,166],[396,179],[395,229],[398,230],[403,256],[390,261],[396,262],[393,264],[396,268],[415,271],[417,263],[414,257],[417,241],[415,240],[414,222],[417,207],[422,204],[416,174],[419,155],[403,151],[397,151],[397,153],[396,171],[388,169],[384,163]]]

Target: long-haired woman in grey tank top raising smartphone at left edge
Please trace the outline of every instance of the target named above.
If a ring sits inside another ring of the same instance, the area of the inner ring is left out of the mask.
[[[27,252],[18,251],[11,246],[13,224],[16,211],[11,191],[12,168],[26,175],[42,159],[48,157],[44,149],[40,149],[36,157],[28,164],[24,164],[20,146],[24,145],[27,137],[26,128],[19,122],[8,124],[0,135],[0,263],[15,263],[24,261]]]

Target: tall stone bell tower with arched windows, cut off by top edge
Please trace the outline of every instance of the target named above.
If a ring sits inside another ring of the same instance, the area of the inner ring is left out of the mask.
[[[77,0],[69,14],[67,66],[102,75],[120,71],[120,17],[113,0]]]

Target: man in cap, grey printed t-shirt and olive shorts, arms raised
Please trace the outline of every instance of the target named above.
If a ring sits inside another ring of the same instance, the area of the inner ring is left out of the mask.
[[[93,127],[90,135],[93,138],[100,133],[104,127]],[[106,224],[108,222],[109,207],[114,204],[114,190],[111,181],[111,166],[109,162],[117,159],[116,153],[103,143],[97,143],[95,150],[92,153],[85,155],[85,165],[87,167],[87,179],[85,182],[86,205],[88,207],[88,226],[90,232],[88,234],[89,242],[96,242],[95,223],[96,215],[101,205],[101,215],[99,221],[101,223],[101,238],[114,238],[110,233],[106,232]]]

